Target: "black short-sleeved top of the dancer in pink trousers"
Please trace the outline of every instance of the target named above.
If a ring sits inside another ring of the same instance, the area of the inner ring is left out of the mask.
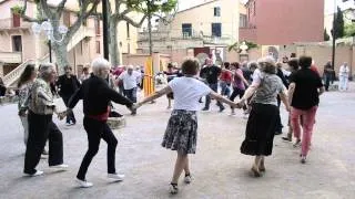
[[[320,104],[318,88],[323,86],[320,75],[311,69],[294,72],[290,83],[295,83],[291,106],[298,109],[310,109]]]

